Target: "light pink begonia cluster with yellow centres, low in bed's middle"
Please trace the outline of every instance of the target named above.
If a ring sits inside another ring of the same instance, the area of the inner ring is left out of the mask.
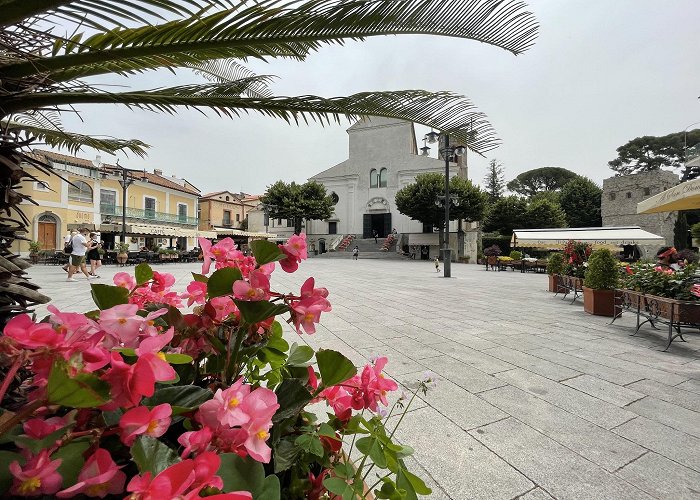
[[[195,418],[202,428],[180,436],[178,442],[185,447],[182,456],[215,449],[267,463],[271,456],[268,432],[278,408],[273,391],[265,387],[251,390],[238,379],[228,389],[218,389],[213,399],[199,407]]]

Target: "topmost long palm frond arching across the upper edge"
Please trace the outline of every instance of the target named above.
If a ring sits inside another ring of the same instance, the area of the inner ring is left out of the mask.
[[[263,0],[158,26],[113,29],[72,45],[63,55],[0,66],[0,76],[45,74],[65,81],[111,72],[109,62],[168,54],[200,60],[279,54],[303,58],[324,44],[398,34],[466,38],[519,54],[538,32],[533,14],[516,0],[286,1]]]

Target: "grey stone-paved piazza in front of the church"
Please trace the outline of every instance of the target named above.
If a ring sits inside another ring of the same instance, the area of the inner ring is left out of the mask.
[[[184,290],[199,266],[156,269]],[[66,283],[60,268],[31,274],[59,308],[93,306],[87,283]],[[397,433],[431,498],[700,498],[700,335],[664,353],[663,332],[631,337],[630,315],[609,326],[548,293],[545,275],[476,265],[453,274],[343,259],[275,272],[280,291],[308,276],[330,290],[333,312],[302,341],[357,364],[387,355],[387,372],[408,388],[426,370],[438,375]]]

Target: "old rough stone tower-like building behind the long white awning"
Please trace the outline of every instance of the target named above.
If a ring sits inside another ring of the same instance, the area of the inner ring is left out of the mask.
[[[639,226],[673,244],[677,212],[638,214],[637,203],[679,183],[673,172],[655,170],[634,175],[610,177],[603,181],[601,215],[603,226]],[[644,256],[655,255],[656,247],[641,248]]]

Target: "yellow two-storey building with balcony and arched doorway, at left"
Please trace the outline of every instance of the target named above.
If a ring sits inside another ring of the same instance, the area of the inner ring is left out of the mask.
[[[126,171],[126,241],[130,250],[142,247],[190,250],[200,234],[197,222],[199,190],[184,179],[123,169],[49,151],[34,150],[39,161],[50,165],[55,175],[46,175],[24,165],[36,181],[27,181],[22,193],[37,205],[23,202],[30,221],[27,237],[39,241],[45,250],[62,249],[66,234],[87,227],[101,234],[105,248],[121,241],[124,211],[121,181]],[[15,251],[26,254],[26,241],[15,242]]]

